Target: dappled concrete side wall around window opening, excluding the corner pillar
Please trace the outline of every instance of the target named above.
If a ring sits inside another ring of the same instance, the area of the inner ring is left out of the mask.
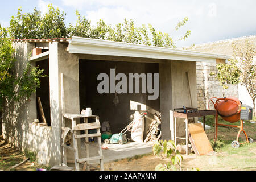
[[[28,56],[34,48],[34,44],[15,43],[16,62],[14,72],[20,76],[28,62]],[[35,63],[31,63],[35,65]],[[40,163],[50,163],[54,157],[55,143],[51,127],[38,127],[32,122],[36,115],[36,94],[32,94],[31,101],[23,98],[19,102],[8,103],[3,108],[3,137],[15,147],[21,150],[34,151],[38,154]]]

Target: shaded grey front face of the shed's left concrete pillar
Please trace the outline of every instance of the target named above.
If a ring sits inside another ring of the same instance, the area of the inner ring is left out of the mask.
[[[59,110],[56,110],[56,135],[59,134],[61,136],[61,127],[62,127],[62,114],[63,113],[80,113],[80,104],[79,104],[79,59],[76,55],[73,55],[67,51],[68,44],[66,43],[52,43],[53,47],[57,48],[57,69],[53,70],[53,74],[55,74],[56,78],[58,78],[56,84],[54,84],[55,89],[52,92],[55,92],[52,95],[53,103],[59,107]],[[50,47],[51,47],[50,46]],[[56,73],[57,72],[57,73]],[[61,73],[63,73],[63,85],[61,85]],[[55,77],[54,76],[54,77]],[[56,80],[55,80],[56,81]],[[50,81],[51,82],[51,81]],[[61,108],[61,87],[64,88],[64,97],[63,97],[63,113]],[[58,98],[58,100],[55,100]],[[72,123],[70,119],[64,118],[66,127],[72,128]],[[80,121],[77,119],[76,123],[78,124]],[[77,139],[80,148],[80,139]],[[61,138],[58,141],[59,146],[61,144]],[[60,148],[60,152],[62,152],[62,147]],[[80,153],[80,150],[79,150]],[[62,154],[62,153],[61,153]],[[60,156],[62,156],[60,154]],[[67,150],[68,160],[73,160],[74,153],[70,150]],[[60,159],[62,160],[62,159]]]

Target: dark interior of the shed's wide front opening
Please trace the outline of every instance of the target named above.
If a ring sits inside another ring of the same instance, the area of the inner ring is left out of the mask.
[[[98,93],[97,86],[101,81],[97,80],[100,73],[106,73],[110,78],[110,69],[115,69],[115,75],[124,73],[159,73],[158,63],[138,63],[125,61],[104,61],[104,60],[79,60],[79,96],[80,110],[86,107],[92,108],[92,114],[100,117],[100,122],[109,121],[112,133],[119,133],[131,122],[131,115],[135,110],[145,108],[160,112],[160,95],[156,100],[148,100],[148,93]],[[118,81],[115,82],[117,84]],[[160,94],[160,93],[159,93]],[[150,94],[151,95],[151,94]],[[116,104],[116,98],[118,103]],[[131,108],[135,103],[135,109]],[[142,104],[142,105],[140,105]],[[154,118],[154,112],[150,117]],[[145,119],[145,129],[148,123]],[[144,132],[144,133],[145,133]],[[145,134],[144,134],[145,137]]]

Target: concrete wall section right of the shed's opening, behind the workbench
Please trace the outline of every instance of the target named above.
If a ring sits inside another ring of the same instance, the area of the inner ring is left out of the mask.
[[[174,140],[175,108],[196,107],[196,63],[190,61],[168,61],[159,64],[160,70],[160,108],[162,114],[162,139]],[[191,87],[192,105],[189,98],[187,75]],[[185,135],[184,119],[177,119],[177,136]]]

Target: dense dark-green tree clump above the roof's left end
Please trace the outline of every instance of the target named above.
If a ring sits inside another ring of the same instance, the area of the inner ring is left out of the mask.
[[[49,39],[67,38],[65,13],[48,5],[48,12],[42,16],[39,10],[22,13],[21,7],[17,16],[10,20],[9,34],[13,39]]]

